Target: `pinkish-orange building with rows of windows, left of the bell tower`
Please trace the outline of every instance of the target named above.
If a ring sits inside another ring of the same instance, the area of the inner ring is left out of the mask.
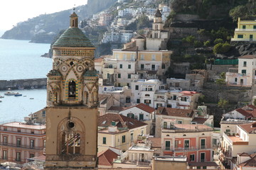
[[[0,141],[0,162],[25,163],[27,158],[43,155],[46,125],[2,124]]]

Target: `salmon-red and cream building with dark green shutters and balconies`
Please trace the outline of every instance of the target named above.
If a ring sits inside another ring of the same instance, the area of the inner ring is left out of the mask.
[[[188,162],[212,162],[213,128],[207,125],[174,124],[162,127],[162,155],[188,157]]]

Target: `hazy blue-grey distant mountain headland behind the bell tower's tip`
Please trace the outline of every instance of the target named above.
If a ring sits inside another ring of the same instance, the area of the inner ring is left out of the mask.
[[[92,14],[109,8],[117,0],[88,0],[87,5],[78,6],[75,12],[80,21],[89,18]],[[11,30],[7,30],[1,38],[16,40],[32,40],[32,42],[51,42],[60,30],[68,28],[70,13],[73,9],[56,13],[43,14],[18,23]]]

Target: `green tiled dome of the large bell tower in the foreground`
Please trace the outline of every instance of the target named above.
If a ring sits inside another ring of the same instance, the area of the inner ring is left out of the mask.
[[[94,47],[90,40],[77,27],[71,27],[65,30],[56,40],[53,47]]]

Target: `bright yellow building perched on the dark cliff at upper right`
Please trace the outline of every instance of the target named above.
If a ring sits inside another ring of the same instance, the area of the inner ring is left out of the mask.
[[[238,18],[238,28],[235,28],[234,38],[231,41],[256,41],[256,21],[241,21]]]

